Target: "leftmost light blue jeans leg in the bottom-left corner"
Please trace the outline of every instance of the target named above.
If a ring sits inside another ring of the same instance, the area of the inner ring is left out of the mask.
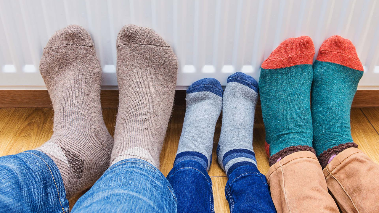
[[[0,186],[2,212],[69,212],[61,173],[43,152],[0,157]]]

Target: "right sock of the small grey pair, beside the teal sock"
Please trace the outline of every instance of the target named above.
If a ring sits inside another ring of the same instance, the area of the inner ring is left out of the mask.
[[[236,72],[227,79],[222,98],[222,127],[217,146],[218,163],[227,176],[238,167],[257,166],[253,150],[253,125],[258,83]]]

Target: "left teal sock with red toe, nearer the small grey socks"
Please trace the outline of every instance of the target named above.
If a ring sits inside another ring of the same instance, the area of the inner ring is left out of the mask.
[[[270,166],[312,148],[310,88],[315,47],[308,36],[283,41],[263,62],[259,91]]]

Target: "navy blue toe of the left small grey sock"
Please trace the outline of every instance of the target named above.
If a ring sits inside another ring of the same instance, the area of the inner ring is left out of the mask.
[[[222,94],[224,93],[218,80],[215,78],[203,78],[195,81],[191,86],[189,86],[187,89],[187,94],[204,91],[212,92],[220,97],[222,97]]]

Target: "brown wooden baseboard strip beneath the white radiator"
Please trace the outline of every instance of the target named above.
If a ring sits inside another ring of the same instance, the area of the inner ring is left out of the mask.
[[[185,97],[185,90],[177,90],[174,108],[185,108]],[[117,108],[118,90],[102,90],[101,104],[103,108]],[[47,90],[0,90],[0,108],[51,107]],[[379,90],[358,90],[352,107],[379,107]]]

